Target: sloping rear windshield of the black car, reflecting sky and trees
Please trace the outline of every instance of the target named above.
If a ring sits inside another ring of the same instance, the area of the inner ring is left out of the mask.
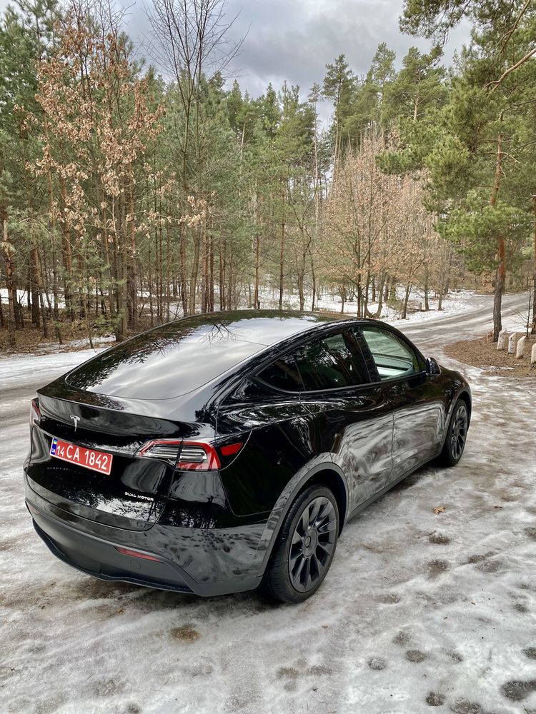
[[[66,377],[73,387],[131,399],[185,394],[262,350],[226,326],[192,319],[142,333],[85,362]]]

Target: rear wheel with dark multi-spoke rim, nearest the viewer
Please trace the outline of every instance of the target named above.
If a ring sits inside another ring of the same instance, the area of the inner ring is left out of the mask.
[[[277,536],[261,590],[282,603],[302,603],[327,575],[339,537],[339,508],[329,488],[299,493]]]

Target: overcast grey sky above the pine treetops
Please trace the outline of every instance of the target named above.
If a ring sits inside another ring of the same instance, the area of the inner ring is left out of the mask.
[[[0,0],[0,9],[6,4]],[[150,32],[144,1],[123,4],[128,7],[126,31],[142,41]],[[399,64],[410,46],[430,47],[428,41],[400,33],[401,11],[402,0],[228,0],[228,19],[238,14],[230,35],[245,36],[231,74],[252,96],[262,94],[270,81],[278,89],[285,79],[299,84],[307,96],[315,81],[322,84],[325,65],[341,53],[356,74],[364,74],[384,41]],[[452,33],[445,48],[447,64],[468,39],[467,26]]]

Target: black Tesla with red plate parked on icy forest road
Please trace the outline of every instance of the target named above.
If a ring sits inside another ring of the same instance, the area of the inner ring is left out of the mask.
[[[296,603],[349,518],[460,460],[470,413],[465,379],[381,322],[196,315],[38,391],[26,503],[52,553],[97,578]]]

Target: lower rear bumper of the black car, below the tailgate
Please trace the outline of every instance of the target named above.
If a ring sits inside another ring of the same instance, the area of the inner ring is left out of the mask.
[[[241,529],[155,524],[127,531],[77,518],[36,494],[26,482],[34,528],[51,553],[101,580],[121,580],[204,597],[254,590],[262,579],[263,524]],[[117,550],[127,548],[155,560]]]

